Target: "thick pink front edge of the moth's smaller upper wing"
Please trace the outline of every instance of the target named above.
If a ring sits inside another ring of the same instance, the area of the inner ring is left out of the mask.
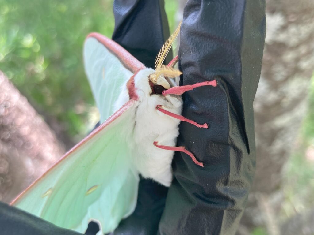
[[[101,35],[99,33],[91,33],[87,36],[88,38],[95,38],[101,44],[103,44],[108,50],[111,51],[112,54],[116,55],[116,57],[121,61],[125,68],[130,70],[132,73],[136,73],[141,69],[145,68],[140,61],[138,61],[133,55],[131,55],[127,50],[125,50],[122,46],[112,41],[111,39]]]

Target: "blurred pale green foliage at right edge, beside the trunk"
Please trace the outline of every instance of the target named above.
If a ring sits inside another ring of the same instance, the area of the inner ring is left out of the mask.
[[[308,113],[283,172],[283,217],[313,209],[314,205],[314,76],[309,90]]]

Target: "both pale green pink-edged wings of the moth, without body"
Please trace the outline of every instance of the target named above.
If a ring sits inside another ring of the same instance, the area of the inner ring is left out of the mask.
[[[107,233],[136,206],[139,179],[128,143],[132,142],[137,101],[128,101],[110,115],[121,86],[144,65],[96,33],[85,41],[84,64],[101,122],[108,119],[12,204],[78,232],[94,220]]]

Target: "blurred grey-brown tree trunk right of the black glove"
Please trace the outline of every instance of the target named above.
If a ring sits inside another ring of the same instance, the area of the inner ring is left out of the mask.
[[[254,101],[257,171],[253,191],[280,185],[300,123],[314,70],[314,2],[267,1],[263,69]]]

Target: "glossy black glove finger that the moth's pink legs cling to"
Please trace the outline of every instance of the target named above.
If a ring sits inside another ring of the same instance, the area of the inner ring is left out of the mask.
[[[180,85],[217,79],[217,87],[183,94],[180,124],[160,234],[235,234],[255,170],[253,99],[265,39],[263,0],[188,1],[179,48]]]

